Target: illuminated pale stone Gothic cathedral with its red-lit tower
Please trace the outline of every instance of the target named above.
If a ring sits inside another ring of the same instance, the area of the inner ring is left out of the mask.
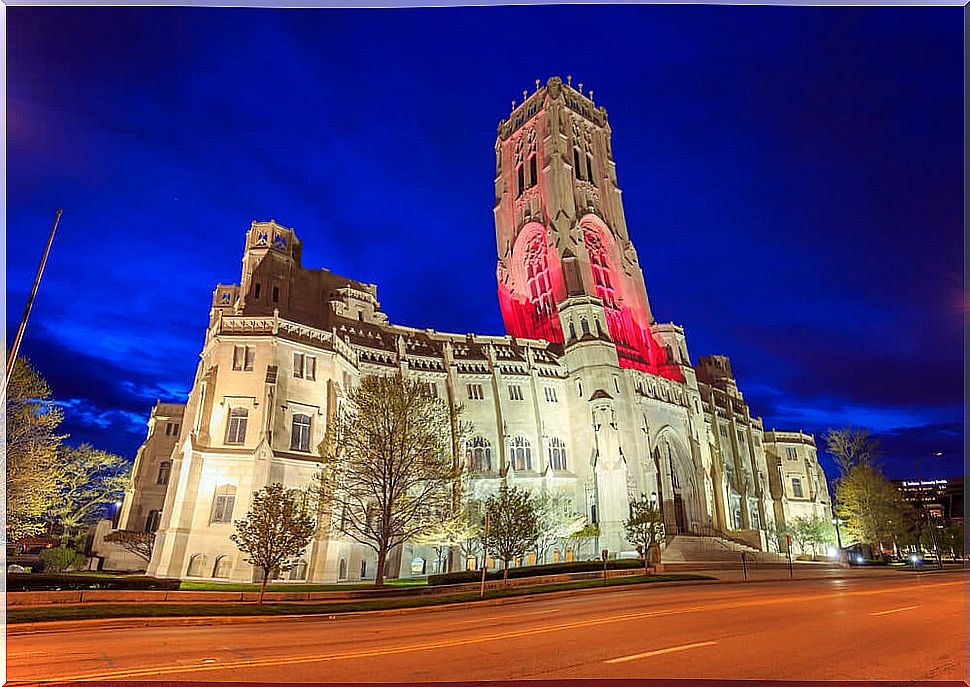
[[[642,494],[662,509],[668,539],[773,548],[768,533],[787,511],[772,491],[768,436],[730,361],[692,365],[684,329],[654,318],[610,139],[592,92],[559,78],[537,82],[500,123],[504,336],[395,325],[376,285],[303,267],[296,231],[254,221],[239,283],[214,290],[187,403],[153,412],[138,454],[119,526],[157,529],[148,574],[252,579],[229,539],[233,520],[270,483],[305,486],[349,390],[362,376],[396,372],[464,406],[475,498],[503,480],[568,494],[598,525],[600,548],[624,552],[623,521]],[[172,422],[169,453],[156,435]],[[407,544],[389,572],[431,572],[429,558]],[[369,549],[323,526],[287,577],[354,580],[372,577],[374,565]]]

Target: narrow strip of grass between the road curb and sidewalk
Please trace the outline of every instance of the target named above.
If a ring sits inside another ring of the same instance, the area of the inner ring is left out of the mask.
[[[506,596],[527,596],[548,592],[567,591],[572,589],[587,589],[592,587],[621,587],[632,584],[650,584],[657,582],[675,582],[678,580],[712,580],[707,575],[639,575],[635,577],[613,577],[606,580],[577,580],[574,582],[560,582],[535,587],[515,587],[507,590],[486,592],[486,599]],[[307,585],[311,586],[311,585]],[[292,589],[292,587],[287,586]],[[8,608],[7,623],[33,623],[54,620],[83,620],[90,618],[158,618],[178,616],[273,616],[273,615],[308,615],[308,614],[338,614],[355,611],[377,611],[393,608],[416,608],[420,606],[437,606],[444,604],[477,601],[479,595],[475,592],[464,594],[450,594],[447,596],[403,596],[384,599],[368,599],[343,603],[265,603],[257,604],[83,604],[77,606],[38,606],[33,608]]]

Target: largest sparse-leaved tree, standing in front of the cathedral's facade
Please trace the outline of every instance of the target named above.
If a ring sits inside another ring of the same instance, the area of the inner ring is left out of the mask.
[[[375,585],[388,552],[433,529],[454,507],[461,467],[453,455],[458,426],[451,407],[417,380],[364,377],[333,419],[314,487],[334,526],[377,553]]]

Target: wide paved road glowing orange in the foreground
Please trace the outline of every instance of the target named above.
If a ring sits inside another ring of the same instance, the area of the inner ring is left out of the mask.
[[[10,681],[963,679],[960,573],[7,638]]]

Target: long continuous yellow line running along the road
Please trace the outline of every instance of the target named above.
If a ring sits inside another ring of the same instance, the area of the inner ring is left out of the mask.
[[[594,627],[597,625],[607,625],[610,623],[624,622],[627,620],[639,620],[642,618],[657,618],[670,615],[681,615],[685,613],[697,613],[701,611],[711,611],[711,610],[731,610],[738,608],[750,608],[757,606],[773,606],[779,604],[789,604],[792,602],[799,601],[815,601],[818,599],[839,599],[847,596],[871,596],[874,594],[888,594],[888,593],[899,593],[900,591],[906,589],[920,589],[926,590],[935,587],[952,587],[955,585],[964,585],[963,580],[958,580],[954,582],[938,582],[935,584],[920,584],[917,586],[909,587],[887,587],[884,589],[867,589],[852,592],[835,592],[835,593],[823,593],[823,594],[801,594],[801,595],[791,595],[791,596],[772,596],[768,598],[751,599],[748,601],[729,601],[714,604],[707,604],[703,606],[685,606],[680,608],[670,608],[670,609],[660,609],[655,611],[640,611],[636,613],[621,613],[618,615],[604,616],[601,618],[589,618],[577,621],[570,621],[559,623],[556,625],[545,625],[539,627],[527,627],[519,630],[508,630],[505,632],[494,632],[491,634],[482,635],[471,635],[468,637],[446,639],[438,642],[428,642],[425,644],[405,644],[390,647],[381,647],[375,649],[364,649],[361,651],[352,651],[347,653],[332,653],[332,654],[310,654],[303,656],[272,656],[267,658],[254,658],[245,659],[240,661],[227,661],[221,664],[196,664],[196,665],[180,665],[180,664],[168,664],[154,667],[145,668],[134,668],[130,670],[114,670],[111,672],[99,672],[99,673],[84,673],[79,675],[65,675],[61,677],[44,677],[44,678],[33,678],[27,680],[10,680],[8,672],[7,685],[40,685],[51,682],[81,682],[89,680],[122,680],[122,679],[132,679],[137,677],[145,677],[149,675],[169,675],[173,673],[199,673],[199,672],[209,672],[213,670],[230,670],[233,668],[266,668],[274,666],[284,666],[284,665],[296,665],[300,663],[329,663],[331,661],[346,661],[352,659],[360,658],[374,658],[377,656],[390,656],[396,654],[410,653],[413,651],[430,651],[435,649],[447,649],[456,646],[466,646],[469,644],[478,644],[481,642],[497,641],[503,639],[515,639],[518,637],[534,636],[537,634],[547,634],[550,632],[558,632],[560,630],[571,630],[577,628],[587,628]]]

